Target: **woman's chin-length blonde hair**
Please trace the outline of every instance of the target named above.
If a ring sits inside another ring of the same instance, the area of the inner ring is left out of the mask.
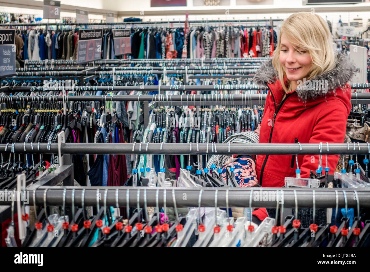
[[[272,64],[277,70],[279,80],[286,93],[292,91],[292,87],[289,80],[287,80],[288,88],[284,84],[285,72],[279,61],[282,34],[285,34],[294,47],[303,48],[310,54],[312,66],[306,80],[315,78],[335,67],[333,39],[328,24],[317,14],[303,11],[293,13],[284,21],[280,29],[279,40],[272,56]]]

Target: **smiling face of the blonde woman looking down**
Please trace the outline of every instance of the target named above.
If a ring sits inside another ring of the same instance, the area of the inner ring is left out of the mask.
[[[298,80],[303,81],[303,78],[307,77],[312,65],[309,52],[300,47],[294,48],[285,34],[282,34],[280,40],[279,59],[287,79],[292,81],[295,87]]]

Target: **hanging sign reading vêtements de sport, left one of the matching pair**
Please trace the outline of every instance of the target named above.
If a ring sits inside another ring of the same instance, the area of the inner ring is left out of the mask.
[[[101,59],[102,29],[78,30],[77,64]]]

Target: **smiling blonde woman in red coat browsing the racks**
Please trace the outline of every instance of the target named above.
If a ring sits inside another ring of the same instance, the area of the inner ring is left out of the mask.
[[[343,143],[351,109],[348,82],[353,61],[333,50],[329,26],[317,14],[294,13],[283,23],[271,60],[254,82],[268,87],[259,143]],[[298,155],[302,178],[319,168],[319,155]],[[329,174],[339,155],[327,156]],[[322,167],[325,167],[323,160]],[[256,174],[262,187],[283,187],[295,177],[295,155],[258,155]]]

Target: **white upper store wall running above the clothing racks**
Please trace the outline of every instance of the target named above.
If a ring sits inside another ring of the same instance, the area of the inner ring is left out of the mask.
[[[21,0],[24,5],[34,3],[35,0]],[[42,5],[43,0],[36,0]],[[303,6],[302,0],[264,0],[258,3],[250,2],[249,0],[221,0],[221,3],[230,3],[228,6],[197,6],[203,0],[187,0],[186,7],[151,7],[151,0],[61,0],[62,5],[77,8],[90,8],[94,10],[101,10],[101,14],[94,14],[90,11],[89,18],[96,20],[104,20],[104,11],[111,11],[117,14],[115,21],[122,21],[125,17],[139,17],[144,21],[176,21],[185,19],[185,11],[189,13],[189,20],[242,20],[242,19],[285,19],[291,13],[296,11],[314,11],[324,19],[332,22],[333,28],[339,18],[344,23],[353,21],[354,18],[362,18],[360,23],[366,29],[370,24],[370,0],[361,4],[347,4],[347,5],[308,5]],[[241,1],[249,3],[248,5],[238,5]],[[19,0],[0,0],[1,3],[17,3]],[[253,3],[253,4],[252,4]],[[259,3],[273,3],[273,4],[259,4]],[[25,9],[22,7],[0,6],[0,12],[14,12],[25,14],[39,14],[42,16],[41,7],[37,9]],[[328,11],[320,11],[320,9]],[[345,11],[338,11],[338,9],[345,9]],[[285,11],[284,9],[289,9]],[[314,10],[313,10],[314,9]],[[357,11],[352,11],[356,9]],[[75,17],[73,9],[61,11],[61,17]],[[331,10],[331,11],[330,11]],[[154,11],[157,14],[152,14]],[[279,12],[281,11],[281,12]],[[202,12],[213,12],[213,14],[202,14]],[[177,13],[177,14],[176,14]],[[199,14],[200,13],[200,14]],[[175,14],[175,15],[173,15]],[[44,19],[43,21],[47,21]],[[53,21],[53,20],[50,20]]]

